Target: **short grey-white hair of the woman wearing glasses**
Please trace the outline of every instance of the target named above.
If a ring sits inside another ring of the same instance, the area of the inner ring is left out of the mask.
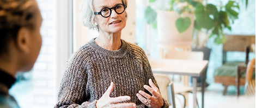
[[[127,5],[127,0],[122,0],[124,5]],[[82,0],[80,5],[79,21],[89,29],[99,31],[99,26],[94,24],[94,11],[93,11],[93,0]],[[127,13],[125,12],[126,17]]]

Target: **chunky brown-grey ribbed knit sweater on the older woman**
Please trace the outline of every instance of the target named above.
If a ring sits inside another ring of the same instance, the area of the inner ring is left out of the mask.
[[[156,84],[148,59],[139,46],[121,40],[121,48],[111,51],[92,39],[68,60],[55,107],[95,107],[111,82],[114,90],[110,97],[130,96],[131,100],[124,103],[146,107],[136,93],[139,90],[149,93],[143,85],[149,85],[150,78]],[[168,107],[166,100],[163,107]]]

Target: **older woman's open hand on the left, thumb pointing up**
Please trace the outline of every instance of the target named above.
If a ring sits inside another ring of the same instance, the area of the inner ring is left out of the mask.
[[[120,103],[126,100],[130,100],[130,96],[120,96],[111,98],[109,95],[114,89],[114,83],[111,82],[111,85],[108,87],[107,91],[103,94],[103,96],[97,100],[96,107],[102,108],[102,107],[136,107],[135,103]]]

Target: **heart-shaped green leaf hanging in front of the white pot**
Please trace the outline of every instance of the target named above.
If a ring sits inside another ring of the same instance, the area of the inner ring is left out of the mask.
[[[191,25],[191,21],[189,17],[178,18],[175,22],[175,26],[178,29],[179,33],[186,31]]]

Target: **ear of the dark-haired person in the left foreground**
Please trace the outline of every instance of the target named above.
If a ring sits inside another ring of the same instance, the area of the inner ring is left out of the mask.
[[[16,46],[21,52],[29,52],[29,30],[27,28],[21,28],[17,33]]]

